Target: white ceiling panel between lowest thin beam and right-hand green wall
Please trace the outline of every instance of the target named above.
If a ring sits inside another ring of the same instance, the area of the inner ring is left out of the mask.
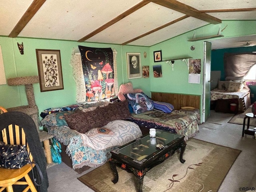
[[[144,46],[152,46],[154,44],[157,44],[158,42],[168,40],[170,38],[173,38],[175,36],[178,36],[180,34],[186,33],[188,31],[191,31],[195,28],[202,27],[207,24],[208,22],[189,17],[180,22],[174,23],[171,26],[168,26],[152,34],[149,34],[143,38],[135,40],[134,42],[129,43],[129,45],[143,44]]]

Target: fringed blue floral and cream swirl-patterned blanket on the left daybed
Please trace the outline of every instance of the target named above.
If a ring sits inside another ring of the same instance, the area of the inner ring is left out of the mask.
[[[68,126],[50,126],[48,132],[67,146],[73,169],[101,166],[111,157],[111,150],[142,136],[137,124],[125,120],[114,120],[85,134]]]

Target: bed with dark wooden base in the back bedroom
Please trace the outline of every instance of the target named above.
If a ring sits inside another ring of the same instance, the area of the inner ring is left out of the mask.
[[[236,112],[244,112],[251,104],[250,88],[243,82],[219,81],[210,91],[211,104],[218,112],[230,112],[230,103],[238,105]]]

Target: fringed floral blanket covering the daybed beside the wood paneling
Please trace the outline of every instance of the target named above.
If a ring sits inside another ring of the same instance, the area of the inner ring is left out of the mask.
[[[172,113],[147,111],[132,114],[132,122],[149,128],[158,128],[185,136],[185,140],[199,131],[200,115],[196,112],[173,110]]]

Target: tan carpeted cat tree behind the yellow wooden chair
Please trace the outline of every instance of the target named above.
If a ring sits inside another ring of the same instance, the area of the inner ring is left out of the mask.
[[[16,77],[10,78],[7,80],[8,85],[10,86],[18,86],[25,85],[26,88],[26,96],[28,100],[28,105],[26,106],[18,106],[13,108],[8,108],[7,111],[19,111],[28,114],[35,122],[36,128],[38,130],[40,141],[44,143],[44,149],[46,153],[46,160],[48,164],[52,163],[52,155],[50,150],[49,139],[53,136],[39,130],[39,114],[38,107],[36,106],[35,96],[34,96],[34,83],[39,83],[39,76],[27,76],[27,77]]]

